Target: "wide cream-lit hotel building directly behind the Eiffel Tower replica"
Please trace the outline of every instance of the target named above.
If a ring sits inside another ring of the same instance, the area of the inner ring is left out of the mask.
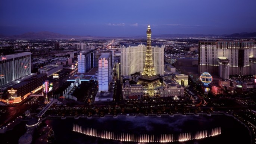
[[[121,46],[121,74],[143,72],[147,46],[144,44]],[[153,65],[156,75],[164,75],[164,46],[152,44]]]

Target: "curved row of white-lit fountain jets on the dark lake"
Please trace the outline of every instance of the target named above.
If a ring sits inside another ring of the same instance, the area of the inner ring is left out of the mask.
[[[138,142],[138,143],[167,143],[174,141],[189,141],[189,140],[199,140],[206,137],[213,137],[221,134],[221,127],[213,128],[211,131],[197,131],[195,134],[191,132],[181,133],[178,137],[175,137],[174,134],[161,134],[161,135],[153,135],[153,134],[141,134],[134,135],[129,133],[121,133],[115,134],[110,131],[97,131],[97,129],[93,128],[82,128],[82,126],[74,124],[72,131],[79,132],[85,135],[89,135],[92,137],[99,137],[103,139],[109,140],[118,140],[118,141],[127,141],[127,142]]]

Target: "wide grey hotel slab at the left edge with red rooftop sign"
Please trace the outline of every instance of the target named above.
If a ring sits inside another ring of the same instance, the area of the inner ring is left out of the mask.
[[[31,74],[31,53],[16,53],[0,57],[0,87]]]

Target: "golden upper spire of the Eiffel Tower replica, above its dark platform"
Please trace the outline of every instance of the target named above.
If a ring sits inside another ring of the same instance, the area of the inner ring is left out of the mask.
[[[152,57],[150,25],[147,26],[147,51],[146,51],[145,65],[144,65],[142,75],[150,76],[150,77],[156,75],[156,72],[154,71],[153,57]]]

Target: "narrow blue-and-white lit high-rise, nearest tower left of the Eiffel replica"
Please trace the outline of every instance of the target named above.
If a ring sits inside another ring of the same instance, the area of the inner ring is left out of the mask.
[[[99,57],[99,92],[109,90],[109,82],[111,75],[111,59],[110,53],[102,53]]]

